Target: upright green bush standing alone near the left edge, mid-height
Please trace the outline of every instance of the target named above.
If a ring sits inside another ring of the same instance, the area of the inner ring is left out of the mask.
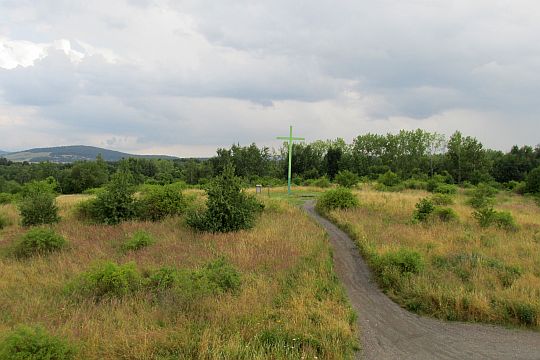
[[[56,206],[55,184],[35,181],[26,184],[19,203],[23,226],[53,224],[60,220]]]

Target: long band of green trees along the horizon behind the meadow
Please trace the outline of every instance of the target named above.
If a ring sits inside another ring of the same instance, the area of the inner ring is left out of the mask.
[[[15,163],[0,158],[0,193],[16,193],[22,184],[54,178],[61,193],[80,193],[106,184],[118,170],[129,171],[136,184],[205,184],[234,165],[236,176],[248,184],[282,184],[286,179],[288,147],[279,149],[232,145],[210,159],[123,159],[73,164]],[[349,171],[377,179],[389,171],[402,180],[443,175],[448,182],[522,182],[540,166],[540,145],[513,146],[509,152],[492,150],[476,138],[456,131],[449,138],[421,129],[396,134],[363,134],[352,143],[343,139],[293,145],[293,181],[296,184]]]

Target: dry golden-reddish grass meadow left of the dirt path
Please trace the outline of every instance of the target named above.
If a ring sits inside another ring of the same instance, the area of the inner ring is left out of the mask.
[[[193,196],[200,193],[194,191]],[[0,206],[0,340],[20,324],[43,326],[74,344],[80,359],[346,359],[356,343],[355,313],[332,268],[325,232],[279,196],[253,230],[197,233],[182,217],[115,226],[77,220],[88,196],[60,196],[53,228],[66,250],[15,259],[11,244],[26,230],[14,205]],[[156,241],[136,251],[122,244],[138,230]],[[103,261],[201,269],[225,257],[241,279],[236,293],[178,301],[144,288],[123,297],[76,299],[66,287]]]

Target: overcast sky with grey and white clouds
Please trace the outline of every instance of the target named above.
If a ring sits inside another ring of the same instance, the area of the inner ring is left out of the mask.
[[[0,0],[0,149],[540,143],[537,0]]]

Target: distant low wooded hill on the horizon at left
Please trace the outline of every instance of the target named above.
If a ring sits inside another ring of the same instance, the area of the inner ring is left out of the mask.
[[[95,160],[101,154],[105,161],[118,161],[122,158],[176,159],[168,155],[134,155],[94,146],[74,145],[50,148],[36,148],[13,153],[3,153],[2,157],[16,162],[56,162],[72,163],[79,160]]]

